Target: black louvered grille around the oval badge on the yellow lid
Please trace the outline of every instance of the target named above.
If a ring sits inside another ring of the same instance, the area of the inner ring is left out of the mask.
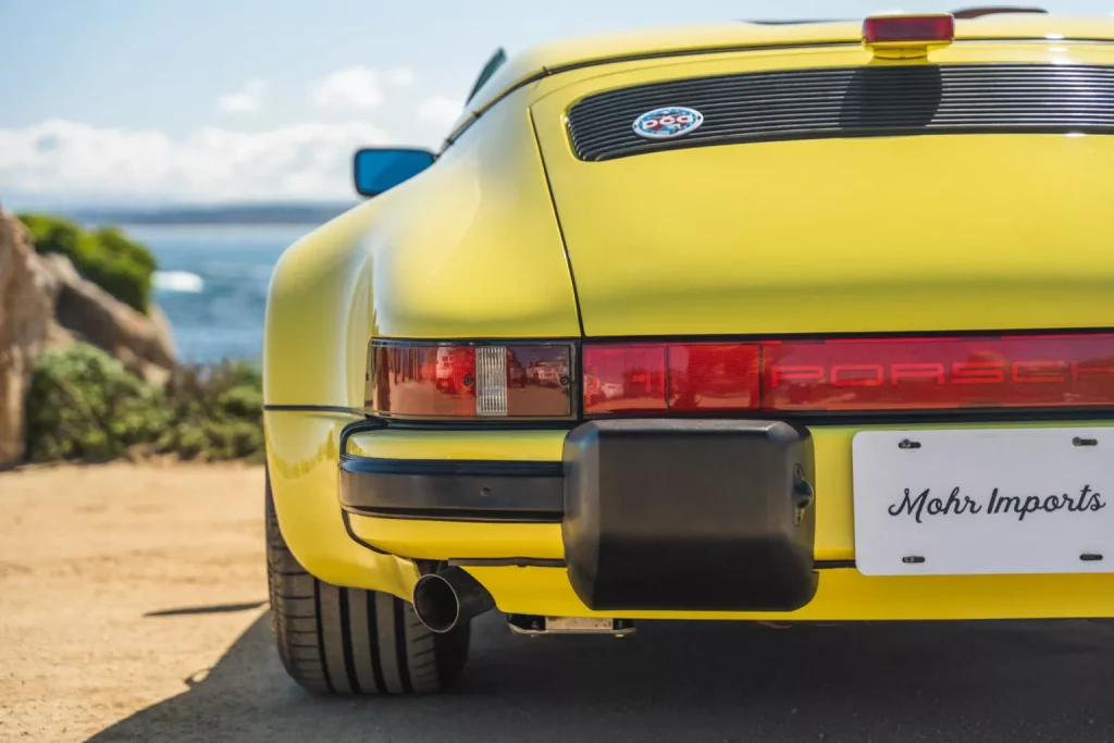
[[[675,139],[636,135],[664,106],[704,115]],[[571,107],[577,157],[746,141],[909,134],[1114,134],[1114,67],[955,65],[783,70],[688,78],[608,90]]]

